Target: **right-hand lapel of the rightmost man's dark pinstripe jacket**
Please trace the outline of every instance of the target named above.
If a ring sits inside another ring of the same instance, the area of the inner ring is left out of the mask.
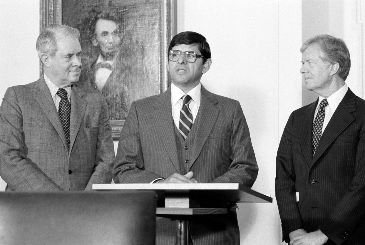
[[[338,135],[355,120],[355,117],[351,115],[351,112],[354,111],[356,111],[356,96],[350,89],[348,89],[336,111],[332,115],[330,122],[328,122],[326,129],[323,131],[311,166],[318,160],[318,158],[338,137]]]

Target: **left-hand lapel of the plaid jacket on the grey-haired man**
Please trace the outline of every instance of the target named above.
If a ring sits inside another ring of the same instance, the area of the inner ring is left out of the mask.
[[[45,113],[48,120],[51,122],[54,129],[57,131],[59,137],[64,143],[64,146],[67,148],[64,129],[62,127],[61,121],[59,120],[58,112],[43,76],[41,76],[41,78],[37,81],[34,92],[38,94],[35,99],[37,100],[39,106]]]

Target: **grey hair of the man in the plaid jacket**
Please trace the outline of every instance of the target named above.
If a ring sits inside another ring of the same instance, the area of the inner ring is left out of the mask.
[[[50,24],[43,28],[35,45],[39,58],[41,58],[42,53],[47,53],[53,58],[58,50],[57,43],[61,38],[79,39],[80,32],[73,27],[62,24]]]

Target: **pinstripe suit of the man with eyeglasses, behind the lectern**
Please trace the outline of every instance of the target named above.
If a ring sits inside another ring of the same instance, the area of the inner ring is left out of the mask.
[[[251,187],[258,167],[239,102],[201,87],[195,123],[197,129],[187,166],[194,178],[202,183],[235,182]],[[114,162],[115,183],[149,183],[181,173],[174,127],[170,88],[132,103]],[[157,218],[156,244],[174,243],[175,223]],[[194,245],[239,244],[235,210],[219,217],[195,218],[189,225]]]

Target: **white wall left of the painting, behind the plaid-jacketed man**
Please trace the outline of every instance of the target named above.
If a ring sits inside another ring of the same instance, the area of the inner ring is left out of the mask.
[[[0,99],[8,87],[39,78],[35,41],[39,35],[39,0],[0,0]],[[0,179],[0,190],[5,190]]]

